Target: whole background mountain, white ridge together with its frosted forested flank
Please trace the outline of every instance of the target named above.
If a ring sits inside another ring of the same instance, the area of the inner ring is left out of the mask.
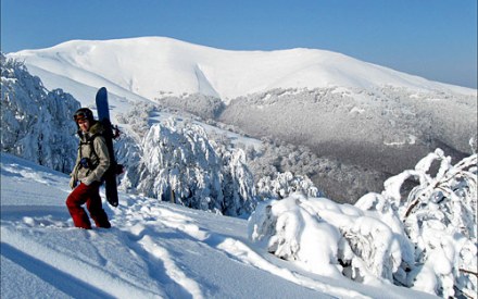
[[[470,140],[476,147],[476,89],[330,51],[228,51],[143,37],[74,40],[8,57],[83,105],[91,107],[98,87],[105,86],[113,116],[139,103],[161,104],[257,139],[306,146],[338,161],[317,169],[313,180],[339,200],[377,191],[389,174],[437,147],[453,158],[471,153]],[[354,167],[361,172],[344,173]]]

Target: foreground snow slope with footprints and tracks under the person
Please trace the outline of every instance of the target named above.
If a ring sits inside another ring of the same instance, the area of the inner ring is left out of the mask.
[[[426,298],[261,251],[244,220],[121,194],[112,229],[73,228],[64,174],[1,154],[2,298]],[[424,297],[425,296],[425,297]]]

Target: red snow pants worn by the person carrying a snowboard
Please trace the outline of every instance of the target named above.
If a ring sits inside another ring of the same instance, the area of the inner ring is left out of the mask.
[[[81,183],[66,198],[66,207],[68,208],[75,226],[91,229],[88,215],[85,209],[81,208],[85,203],[97,227],[111,227],[106,212],[104,212],[101,204],[99,182],[93,182],[89,186]]]

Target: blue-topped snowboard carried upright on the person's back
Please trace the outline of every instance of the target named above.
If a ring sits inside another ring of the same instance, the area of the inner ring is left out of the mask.
[[[104,127],[103,137],[106,141],[108,153],[110,154],[110,167],[103,176],[104,185],[105,185],[104,187],[106,190],[106,200],[111,205],[117,207],[118,198],[117,198],[116,175],[117,175],[118,164],[114,157],[113,139],[115,136],[113,134],[113,126],[111,125],[111,120],[110,120],[110,108],[108,105],[106,88],[101,87],[98,90],[96,101],[97,101],[98,120]]]

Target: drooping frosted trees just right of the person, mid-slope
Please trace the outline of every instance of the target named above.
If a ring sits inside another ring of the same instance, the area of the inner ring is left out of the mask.
[[[161,200],[226,215],[249,214],[255,208],[243,151],[215,144],[199,125],[174,120],[150,128],[138,182],[129,185]]]

